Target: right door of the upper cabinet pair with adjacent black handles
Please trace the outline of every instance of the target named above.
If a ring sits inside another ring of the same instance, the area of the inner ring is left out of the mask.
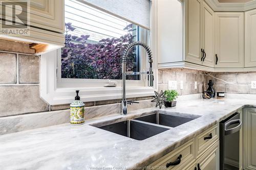
[[[202,9],[203,65],[214,67],[214,11],[205,2]]]

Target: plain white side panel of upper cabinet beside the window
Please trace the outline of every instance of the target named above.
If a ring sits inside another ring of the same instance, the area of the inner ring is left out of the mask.
[[[177,0],[161,0],[156,4],[158,63],[182,61],[183,4]]]

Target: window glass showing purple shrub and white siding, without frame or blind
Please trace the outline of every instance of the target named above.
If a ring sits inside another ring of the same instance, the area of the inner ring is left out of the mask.
[[[146,29],[77,1],[66,1],[66,46],[61,49],[62,79],[121,80],[121,56],[133,41],[147,42]],[[140,71],[140,47],[127,58],[127,71]],[[140,76],[127,76],[140,80]]]

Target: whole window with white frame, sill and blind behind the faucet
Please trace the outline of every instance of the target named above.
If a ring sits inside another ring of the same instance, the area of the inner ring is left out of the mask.
[[[121,56],[128,43],[138,40],[152,46],[157,80],[150,5],[150,0],[65,0],[66,46],[41,55],[41,98],[51,105],[67,104],[80,90],[83,102],[120,99]],[[144,48],[135,47],[126,69],[144,71],[147,67]],[[108,79],[115,80],[117,87],[103,87]],[[153,95],[157,87],[156,81],[154,87],[147,87],[146,75],[126,79],[127,98]]]

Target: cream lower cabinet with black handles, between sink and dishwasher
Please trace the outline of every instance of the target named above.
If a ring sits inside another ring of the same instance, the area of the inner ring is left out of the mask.
[[[219,170],[218,131],[217,125],[209,128],[178,149],[153,162],[149,167],[172,170]],[[205,145],[207,147],[204,147]]]

